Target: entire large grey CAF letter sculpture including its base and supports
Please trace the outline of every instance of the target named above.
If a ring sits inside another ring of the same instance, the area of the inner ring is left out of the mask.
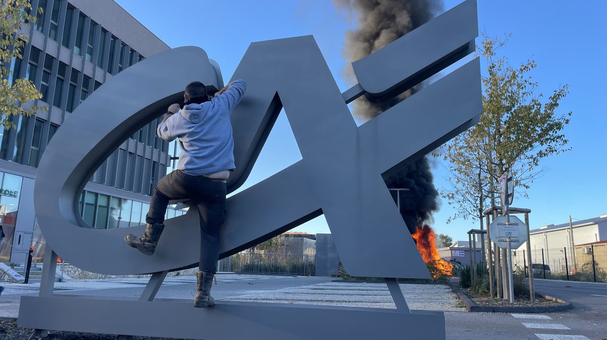
[[[59,128],[38,167],[35,208],[47,240],[39,296],[24,296],[19,326],[192,339],[369,339],[399,334],[444,339],[444,316],[410,311],[395,278],[428,278],[426,266],[382,176],[426,155],[472,126],[481,112],[480,64],[467,62],[357,127],[347,103],[384,101],[469,55],[478,35],[476,2],[449,12],[353,63],[359,84],[339,91],[311,36],[251,44],[233,78],[248,92],[232,114],[237,171],[247,178],[284,107],[302,160],[228,199],[221,257],[265,241],[324,213],[344,267],[386,278],[396,309],[154,299],[166,273],[198,262],[198,216],[165,221],[153,256],[126,247],[144,225],[96,230],[78,213],[95,169],[128,136],[164,112],[194,79],[220,88],[219,65],[197,47],[152,56],[115,76]],[[154,155],[154,157],[157,157]],[[327,174],[330,174],[327,176]],[[114,275],[152,273],[139,299],[53,295],[56,256]],[[170,320],[170,322],[168,322]],[[298,324],[305,320],[310,328]]]

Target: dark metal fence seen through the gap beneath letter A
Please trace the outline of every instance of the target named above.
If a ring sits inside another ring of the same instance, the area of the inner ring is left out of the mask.
[[[314,276],[316,256],[245,250],[219,261],[220,272]]]

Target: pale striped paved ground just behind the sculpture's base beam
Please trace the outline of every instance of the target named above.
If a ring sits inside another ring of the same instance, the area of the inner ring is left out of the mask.
[[[387,285],[341,281],[315,276],[218,273],[212,294],[217,301],[255,301],[349,307],[396,308]],[[55,294],[136,298],[149,278],[81,279],[55,282]],[[166,278],[157,298],[193,299],[195,276]],[[2,283],[0,317],[16,318],[23,295],[38,295],[39,284]],[[409,308],[465,311],[455,293],[442,284],[401,284]]]

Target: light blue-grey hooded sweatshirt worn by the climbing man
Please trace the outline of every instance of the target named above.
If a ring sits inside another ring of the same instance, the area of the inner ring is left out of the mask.
[[[179,170],[200,176],[236,168],[230,114],[245,91],[245,81],[233,81],[221,95],[202,104],[186,105],[158,124],[160,138],[169,142],[179,138]]]

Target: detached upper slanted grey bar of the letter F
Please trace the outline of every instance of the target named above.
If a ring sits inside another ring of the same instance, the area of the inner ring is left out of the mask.
[[[467,0],[352,67],[367,98],[383,102],[475,52],[476,36],[476,1]]]

